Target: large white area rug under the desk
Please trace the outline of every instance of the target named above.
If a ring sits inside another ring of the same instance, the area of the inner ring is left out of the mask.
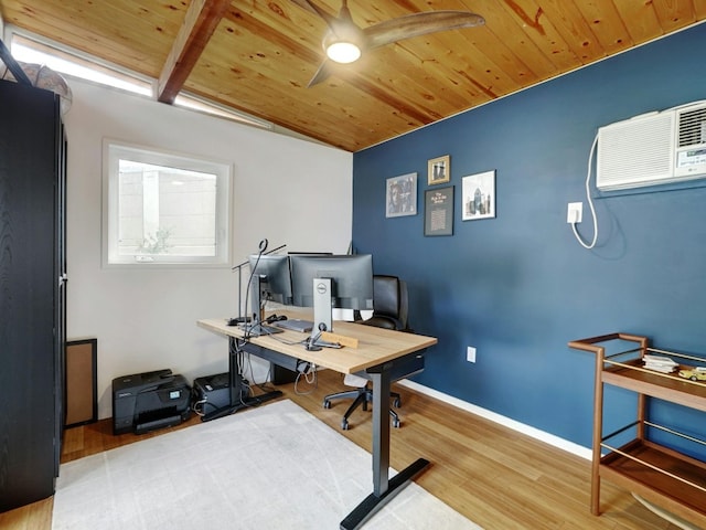
[[[274,402],[62,465],[52,528],[336,529],[371,492],[371,462],[299,405]],[[414,483],[365,524],[430,528],[480,529]]]

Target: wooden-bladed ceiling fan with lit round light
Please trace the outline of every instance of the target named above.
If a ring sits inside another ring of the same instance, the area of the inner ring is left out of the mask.
[[[469,11],[426,11],[362,29],[353,22],[346,0],[342,0],[338,17],[330,15],[311,0],[292,0],[292,2],[315,12],[329,26],[323,36],[323,50],[328,59],[309,82],[310,87],[321,83],[331,74],[329,60],[336,63],[352,63],[363,53],[385,44],[427,33],[472,28],[485,23],[480,14]]]

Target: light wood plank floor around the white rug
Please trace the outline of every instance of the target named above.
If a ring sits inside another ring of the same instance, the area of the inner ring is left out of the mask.
[[[285,398],[371,451],[370,411],[356,411],[349,431],[340,430],[349,401],[321,404],[328,393],[343,390],[342,377],[319,374],[318,388],[280,385]],[[589,463],[435,399],[395,385],[402,394],[402,428],[392,430],[391,465],[402,469],[418,457],[432,465],[417,483],[485,530],[678,530],[639,505],[632,496],[603,480],[601,508],[593,517],[589,504]],[[192,417],[179,427],[200,423]],[[158,436],[165,428],[136,436],[114,436],[110,421],[66,431],[62,462]],[[0,513],[0,528],[50,530],[53,499]]]

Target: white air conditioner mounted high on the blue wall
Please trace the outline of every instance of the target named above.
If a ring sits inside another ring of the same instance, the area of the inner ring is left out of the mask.
[[[622,190],[706,177],[706,102],[598,129],[596,186]]]

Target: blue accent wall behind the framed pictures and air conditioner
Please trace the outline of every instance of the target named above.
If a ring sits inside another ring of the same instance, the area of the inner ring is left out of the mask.
[[[439,339],[416,381],[590,447],[593,357],[569,340],[623,331],[706,354],[703,182],[599,193],[592,177],[597,246],[581,247],[566,222],[567,203],[584,202],[579,231],[591,240],[585,180],[598,127],[706,99],[704,50],[700,24],[354,155],[354,247],[408,282],[411,327]],[[429,237],[427,160],[443,155],[453,235]],[[496,216],[461,221],[462,177],[488,170]],[[410,172],[418,214],[386,219],[386,179]],[[609,421],[631,416],[628,392],[609,399]],[[657,413],[694,432],[693,414]]]

